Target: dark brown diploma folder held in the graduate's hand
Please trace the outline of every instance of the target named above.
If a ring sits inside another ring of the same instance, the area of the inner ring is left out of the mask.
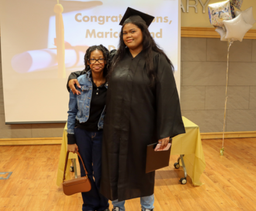
[[[164,168],[169,165],[171,146],[166,151],[154,151],[158,143],[149,144],[147,146],[146,173]]]

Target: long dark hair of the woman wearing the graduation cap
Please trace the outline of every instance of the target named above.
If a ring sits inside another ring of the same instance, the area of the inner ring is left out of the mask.
[[[166,56],[165,52],[162,49],[160,49],[160,47],[155,43],[153,37],[150,35],[148,26],[145,23],[138,22],[138,21],[131,21],[130,19],[127,19],[122,26],[117,52],[115,53],[115,57],[113,58],[112,62],[109,63],[109,70],[110,70],[109,76],[111,76],[111,73],[115,69],[117,63],[121,59],[123,59],[125,56],[127,46],[125,45],[124,40],[123,40],[123,29],[127,23],[132,23],[141,29],[142,36],[143,36],[143,41],[142,41],[143,50],[142,51],[144,51],[144,53],[145,53],[146,71],[147,71],[148,77],[150,79],[150,85],[153,85],[154,82],[157,80],[157,73],[154,70],[152,50],[165,56],[167,62],[171,66],[172,71],[174,71],[174,67],[173,67],[170,59]]]

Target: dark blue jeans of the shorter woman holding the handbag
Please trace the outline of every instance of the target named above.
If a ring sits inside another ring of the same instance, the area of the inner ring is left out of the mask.
[[[100,193],[102,174],[102,134],[103,131],[90,132],[75,128],[75,137],[88,177],[91,182],[91,190],[83,192],[82,211],[104,211],[109,207],[108,199]],[[78,157],[81,176],[86,176],[83,164]],[[93,164],[93,165],[92,165]],[[93,177],[95,180],[93,180]]]

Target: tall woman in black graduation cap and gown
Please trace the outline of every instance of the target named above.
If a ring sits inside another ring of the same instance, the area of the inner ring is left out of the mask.
[[[153,20],[128,8],[119,48],[110,55],[101,193],[112,200],[113,211],[124,211],[125,200],[138,197],[142,211],[154,210],[155,172],[145,173],[147,145],[158,141],[163,149],[169,137],[185,133],[173,66],[148,30]],[[83,72],[69,79],[77,74]]]

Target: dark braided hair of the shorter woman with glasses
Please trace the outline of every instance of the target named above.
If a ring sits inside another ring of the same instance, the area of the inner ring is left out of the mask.
[[[85,53],[85,56],[84,56],[84,64],[85,64],[85,71],[86,72],[90,70],[90,65],[87,64],[87,61],[90,59],[90,54],[94,50],[100,50],[103,54],[104,59],[106,61],[108,61],[109,50],[106,47],[104,47],[103,45],[91,46],[86,50],[86,53]],[[107,74],[108,74],[108,69],[107,69],[107,65],[105,65],[105,67],[103,69],[103,76],[106,77]]]

